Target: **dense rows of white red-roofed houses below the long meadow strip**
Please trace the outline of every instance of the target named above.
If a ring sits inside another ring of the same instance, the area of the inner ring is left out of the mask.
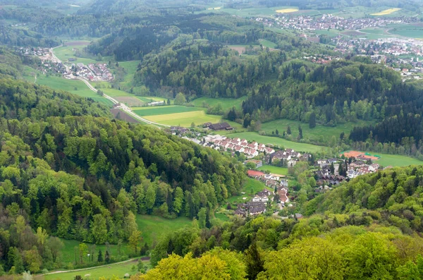
[[[240,152],[247,157],[257,157],[260,152],[272,154],[275,152],[271,147],[266,147],[264,144],[257,142],[249,143],[245,139],[227,138],[221,135],[207,135],[202,141],[204,147],[212,147],[216,150],[231,150],[233,152]]]

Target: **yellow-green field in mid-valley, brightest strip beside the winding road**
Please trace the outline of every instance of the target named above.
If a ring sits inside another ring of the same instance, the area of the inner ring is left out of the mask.
[[[191,126],[195,123],[196,126],[203,123],[218,123],[221,116],[208,115],[204,111],[185,111],[184,113],[165,114],[155,116],[144,116],[149,121],[165,124],[168,126]]]

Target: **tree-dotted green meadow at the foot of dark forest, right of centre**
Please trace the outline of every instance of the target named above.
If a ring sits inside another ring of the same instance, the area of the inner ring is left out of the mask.
[[[369,124],[374,124],[369,121],[357,121],[357,123],[343,123],[338,126],[321,126],[317,125],[315,128],[309,128],[308,123],[301,123],[300,121],[291,121],[287,119],[279,119],[276,121],[269,121],[267,123],[262,123],[262,129],[267,134],[271,134],[272,131],[279,131],[279,134],[283,134],[283,131],[286,131],[288,126],[290,126],[293,138],[298,137],[298,126],[302,128],[302,136],[305,139],[314,140],[320,143],[329,143],[331,138],[334,136],[336,139],[339,138],[341,133],[349,134],[355,126],[367,126]]]

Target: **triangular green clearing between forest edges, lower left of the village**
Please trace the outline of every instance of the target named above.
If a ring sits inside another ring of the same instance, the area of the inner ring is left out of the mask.
[[[151,215],[137,215],[138,230],[142,232],[142,238],[148,245],[153,241],[159,241],[164,233],[169,233],[191,225],[191,220],[187,217],[177,219],[164,219]]]

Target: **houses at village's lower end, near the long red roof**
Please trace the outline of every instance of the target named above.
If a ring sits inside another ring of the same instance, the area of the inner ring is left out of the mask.
[[[283,208],[288,202],[288,181],[281,179],[279,176],[272,174],[264,174],[261,171],[249,170],[248,176],[264,181],[266,186],[271,187],[274,191],[262,190],[252,197],[252,200],[245,203],[240,203],[235,210],[236,215],[247,217],[248,215],[258,215],[266,212],[267,205],[274,202]],[[275,197],[278,197],[275,199]],[[243,197],[245,199],[246,197]],[[292,206],[292,205],[290,205]]]

